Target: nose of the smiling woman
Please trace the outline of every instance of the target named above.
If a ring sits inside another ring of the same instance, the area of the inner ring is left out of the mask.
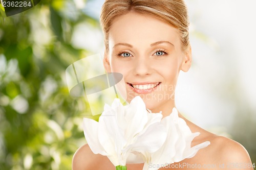
[[[134,74],[137,76],[150,75],[152,64],[147,57],[138,57],[134,63]]]

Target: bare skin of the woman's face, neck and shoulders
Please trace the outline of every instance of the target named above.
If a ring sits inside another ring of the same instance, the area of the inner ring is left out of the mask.
[[[152,112],[162,111],[163,116],[169,115],[175,107],[174,90],[179,72],[188,71],[191,65],[191,48],[182,50],[177,29],[150,15],[130,12],[114,20],[109,41],[109,52],[105,53],[104,66],[106,71],[120,72],[124,76],[127,101],[140,95],[146,107]],[[159,82],[160,84],[150,92],[135,90],[130,85]],[[180,113],[179,116],[186,121],[192,132],[201,133],[193,140],[191,147],[207,140],[211,144],[201,149],[193,158],[175,163],[176,168],[160,169],[189,169],[186,166],[189,164],[197,165],[194,169],[253,169],[248,167],[251,163],[250,157],[241,144],[205,131],[189,122]],[[241,168],[229,166],[232,165],[230,163],[238,163]],[[184,165],[183,168],[180,164]],[[224,167],[220,167],[220,164]],[[107,157],[92,153],[87,144],[75,153],[72,168],[115,169]],[[127,169],[142,168],[143,164],[127,164]]]

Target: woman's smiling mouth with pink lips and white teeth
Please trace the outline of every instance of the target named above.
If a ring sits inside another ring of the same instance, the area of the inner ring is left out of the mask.
[[[141,93],[141,94],[145,94],[145,93],[150,93],[152,92],[159,84],[161,84],[161,82],[157,82],[157,83],[127,83],[129,84],[131,87],[133,87],[133,91],[135,91],[136,93]]]

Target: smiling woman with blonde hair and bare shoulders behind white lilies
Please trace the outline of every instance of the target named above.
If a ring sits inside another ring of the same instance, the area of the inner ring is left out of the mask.
[[[105,35],[104,66],[120,72],[127,101],[140,95],[152,112],[167,116],[175,107],[175,86],[180,70],[191,65],[187,9],[182,0],[106,0],[101,11]],[[200,132],[191,146],[210,141],[195,157],[175,163],[176,169],[253,169],[247,151],[236,141],[217,136],[185,119]],[[200,166],[199,166],[200,165]],[[143,164],[127,164],[142,169]],[[73,158],[73,169],[115,169],[107,157],[83,145]],[[163,168],[161,168],[163,169]],[[170,169],[170,168],[164,168]]]

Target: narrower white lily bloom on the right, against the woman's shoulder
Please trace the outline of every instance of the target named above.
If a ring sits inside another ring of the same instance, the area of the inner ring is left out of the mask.
[[[186,158],[194,157],[200,149],[210,144],[209,141],[205,141],[191,148],[192,140],[200,133],[191,133],[185,120],[178,116],[176,108],[173,109],[172,114],[164,117],[161,123],[164,124],[167,130],[167,138],[158,151],[142,153],[145,159],[143,170],[156,170],[161,165],[180,162]]]

